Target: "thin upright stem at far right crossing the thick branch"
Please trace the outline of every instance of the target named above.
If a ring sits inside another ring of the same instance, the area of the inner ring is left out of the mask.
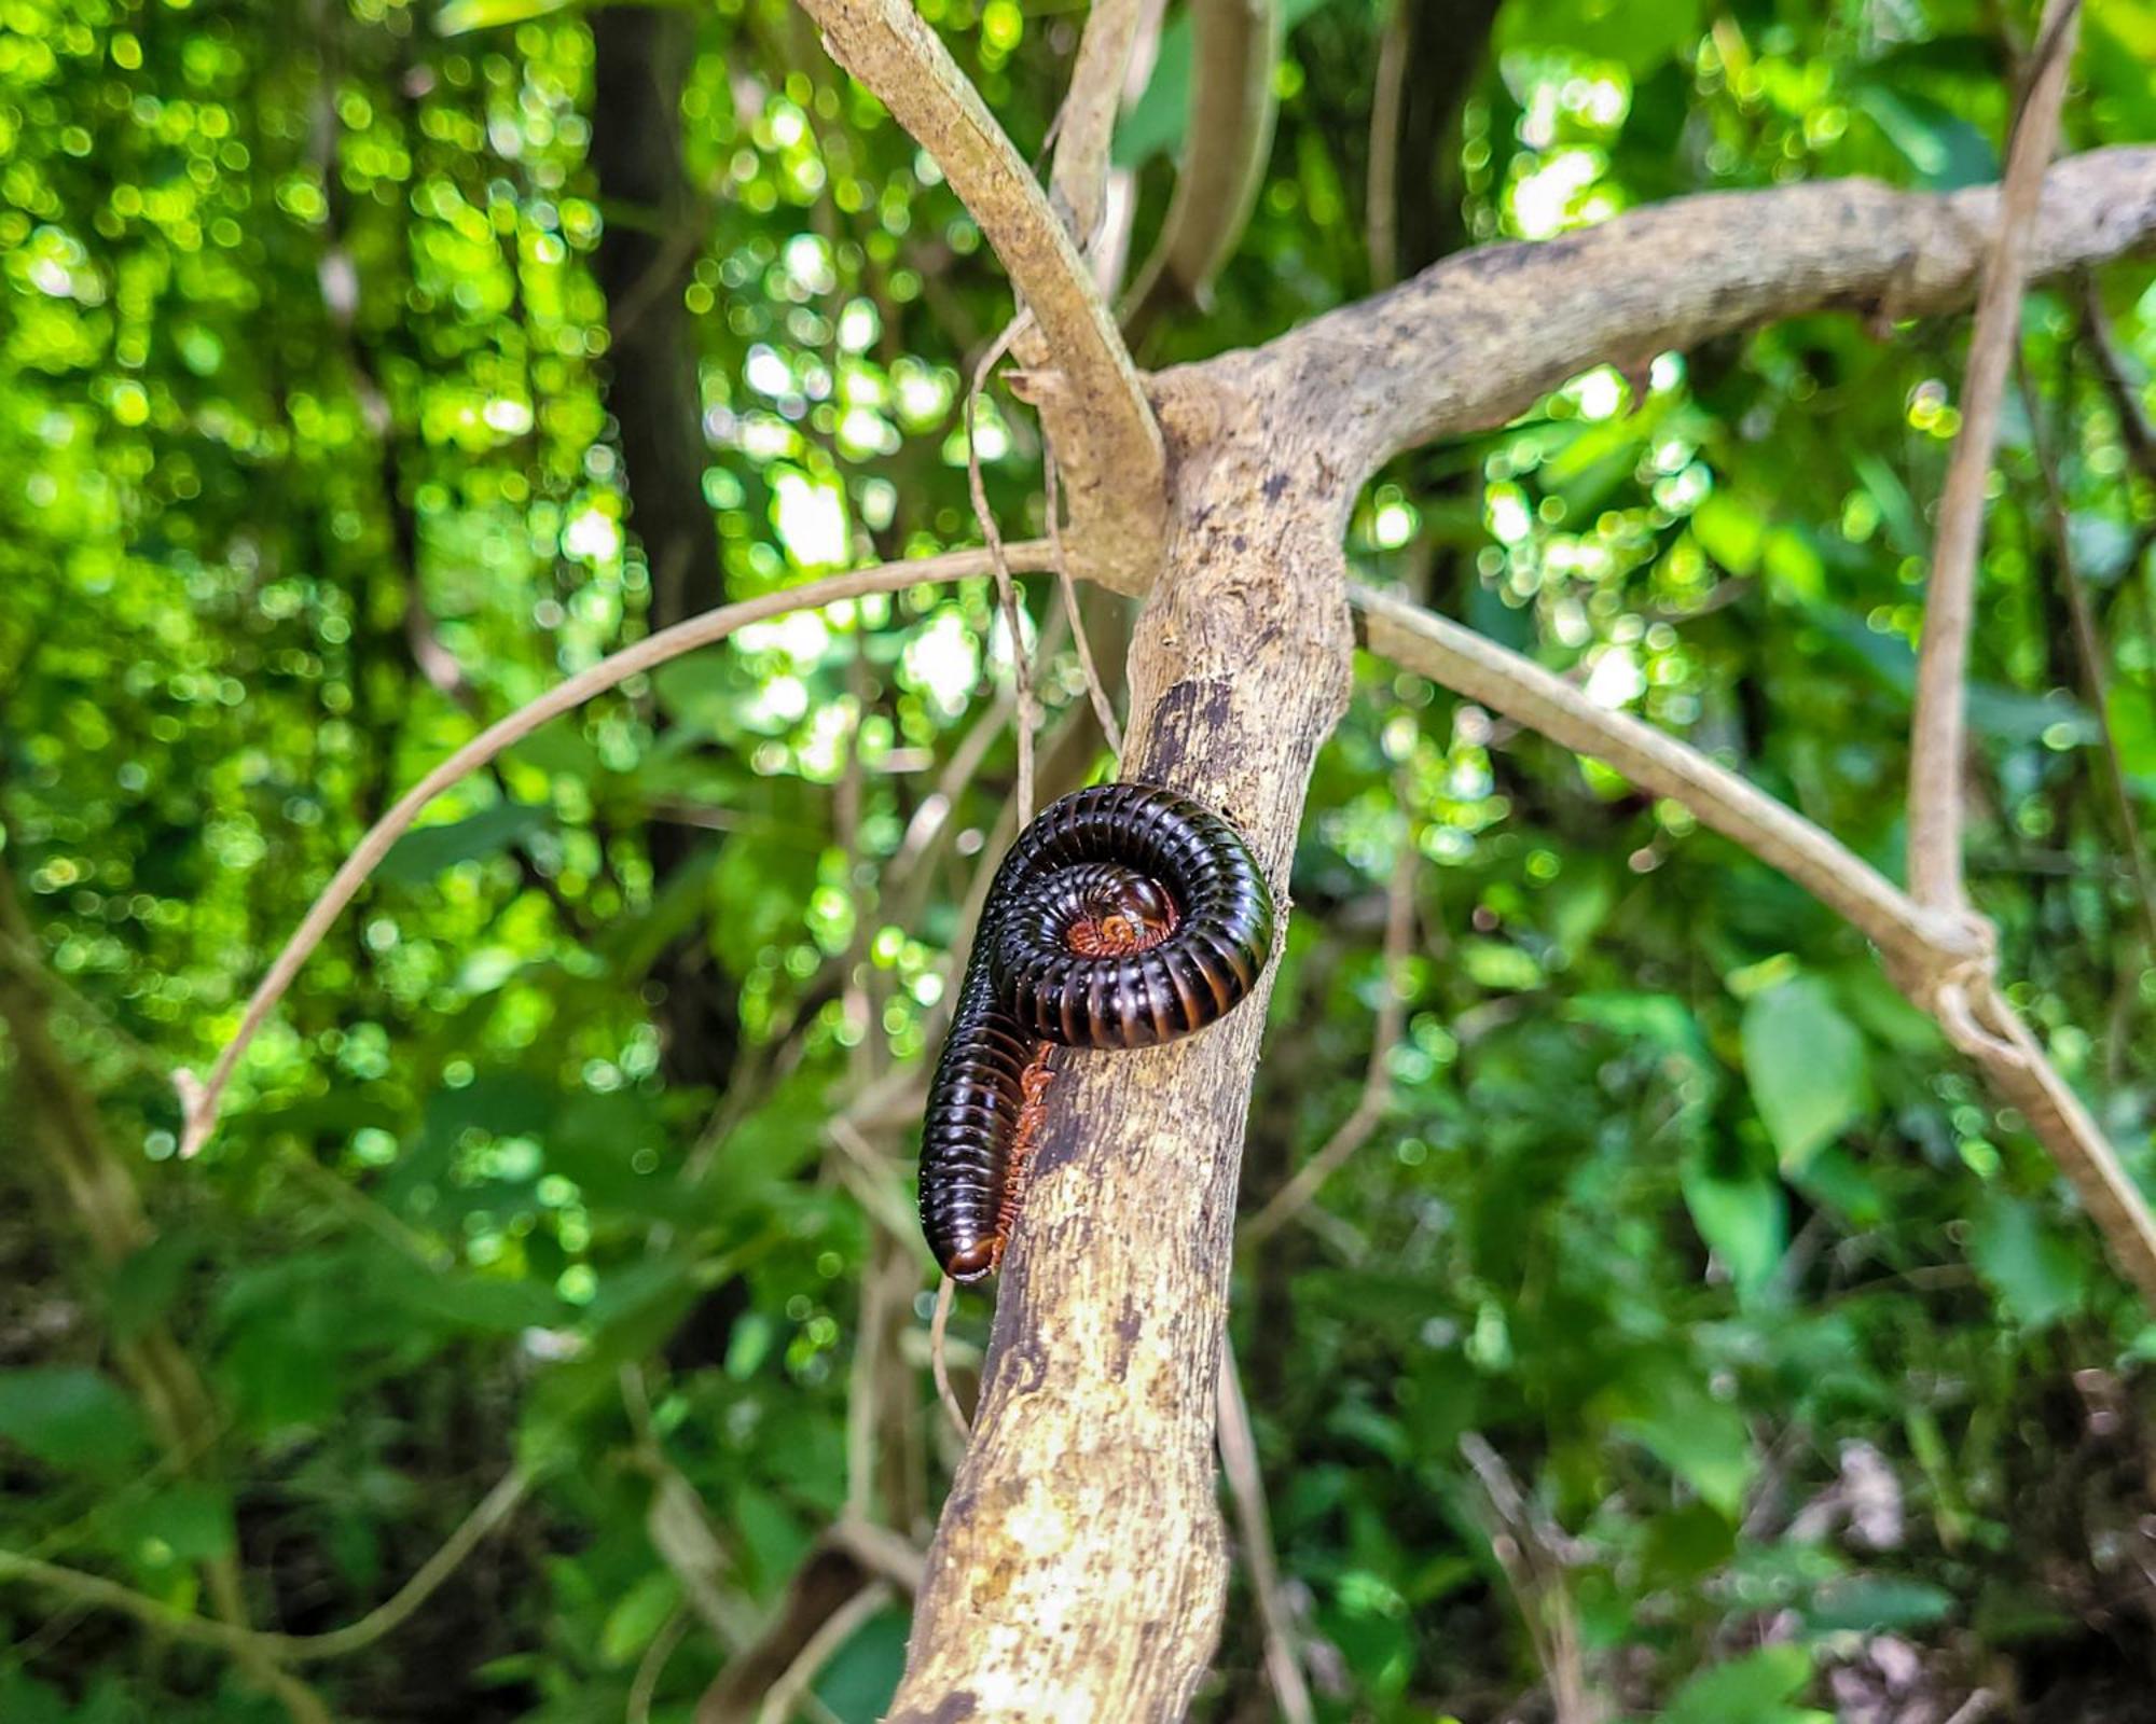
[[[1917,659],[1917,711],[1910,724],[1908,879],[1917,903],[1962,907],[1962,774],[1966,771],[1964,681],[1975,623],[1977,552],[1984,543],[1984,487],[1999,442],[1999,403],[2007,362],[2020,340],[2022,282],[2031,235],[2044,198],[2044,170],[2059,142],[2059,106],[2074,52],[2081,0],[2048,0],[2029,99],[2007,149],[1999,198],[1999,237],[1984,263],[1968,373],[1962,384],[1962,429],[1947,463],[1925,595],[1923,644]]]

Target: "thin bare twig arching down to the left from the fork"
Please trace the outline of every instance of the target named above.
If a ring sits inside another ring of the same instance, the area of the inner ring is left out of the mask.
[[[1041,573],[1052,567],[1052,547],[1046,541],[1007,545],[1000,550],[1000,556],[1005,567],[1011,571]],[[181,1103],[188,1112],[188,1125],[181,1136],[181,1153],[194,1155],[205,1142],[209,1142],[209,1134],[218,1123],[218,1110],[224,1101],[224,1090],[233,1080],[233,1071],[239,1067],[239,1056],[246,1054],[254,1037],[261,1034],[263,1024],[270,1021],[270,1013],[276,1011],[276,1002],[285,998],[285,989],[291,987],[315,946],[321,944],[323,935],[345,912],[345,905],[358,896],[367,877],[382,864],[382,858],[388,856],[390,845],[395,845],[397,838],[401,838],[420,817],[427,804],[451,784],[472,771],[479,771],[507,748],[528,737],[541,724],[561,718],[565,711],[584,705],[610,687],[619,687],[640,670],[651,670],[668,659],[681,657],[683,653],[694,653],[699,646],[720,642],[748,623],[761,623],[768,616],[778,616],[789,610],[815,610],[839,599],[858,599],[867,593],[897,593],[921,582],[964,580],[968,575],[990,573],[992,569],[994,560],[987,552],[944,552],[942,556],[925,556],[914,562],[884,562],[875,569],[828,575],[824,580],[804,582],[802,586],[789,586],[780,593],[765,593],[759,599],[720,606],[718,610],[707,610],[701,616],[675,623],[671,629],[660,629],[658,634],[638,640],[634,646],[623,646],[619,653],[612,653],[556,687],[550,687],[537,700],[517,707],[517,711],[509,713],[509,718],[489,724],[464,748],[442,761],[442,765],[420,778],[418,784],[405,791],[397,800],[397,806],[392,806],[367,830],[367,836],[360,838],[351,856],[347,856],[343,866],[330,877],[321,896],[317,896],[313,907],[308,907],[298,931],[285,942],[285,950],[276,955],[270,972],[257,985],[254,996],[248,1000],[246,1013],[239,1019],[239,1028],[233,1032],[233,1039],[224,1043],[224,1052],[218,1054],[218,1062],[211,1067],[209,1080],[196,1080],[194,1073],[188,1071],[175,1075]]]

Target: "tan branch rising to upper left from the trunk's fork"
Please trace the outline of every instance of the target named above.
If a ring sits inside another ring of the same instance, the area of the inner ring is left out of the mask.
[[[1166,506],[1160,427],[1069,231],[908,0],[802,4],[832,58],[936,157],[1039,325],[1044,351],[1020,349],[1020,358],[1046,360],[1061,373],[1039,405],[1072,496],[1076,573],[1141,590],[1151,580]]]

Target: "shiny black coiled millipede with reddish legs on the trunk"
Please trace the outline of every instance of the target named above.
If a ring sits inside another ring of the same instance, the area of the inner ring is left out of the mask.
[[[1048,1043],[1153,1047],[1255,985],[1272,892],[1225,819],[1151,784],[1076,791],[996,868],[921,1134],[921,1226],[953,1280],[1000,1261]]]

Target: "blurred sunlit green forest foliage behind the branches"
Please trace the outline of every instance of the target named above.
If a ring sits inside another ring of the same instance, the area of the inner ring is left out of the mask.
[[[923,13],[1039,151],[1080,17]],[[1257,215],[1151,364],[1382,287],[1386,32],[1410,110],[1445,84],[1414,54],[1477,54],[1440,157],[1401,157],[1401,233],[1490,241],[1701,190],[1986,181],[2033,28],[1977,0],[1289,17]],[[608,54],[677,99],[673,207],[602,172]],[[2091,0],[2072,149],[2156,138],[2152,62],[2156,4]],[[1119,140],[1141,250],[1188,78],[1175,9]],[[610,233],[664,267],[608,295]],[[237,1565],[257,1627],[317,1633],[522,1463],[509,1528],[306,1681],[343,1718],[688,1720],[849,1500],[849,1384],[856,1502],[923,1537],[949,1478],[925,1256],[880,1226],[912,1125],[869,1121],[869,1162],[824,1127],[918,1073],[1000,843],[987,584],[759,625],[550,726],[397,847],[190,1164],[170,1073],[403,787],[664,621],[623,461],[625,427],[666,435],[640,321],[686,319],[683,459],[746,597],[972,541],[962,377],[998,272],[768,0],[0,0],[0,1545],[201,1612]],[[2156,474],[2122,416],[2152,405],[2152,272],[2091,297],[2124,397],[2076,284],[2024,319],[1973,892],[2156,1192],[2147,905],[2035,455],[2156,819]],[[1352,554],[1897,873],[1964,340],[1820,315],[1589,373],[1404,457]],[[1037,530],[1031,418],[985,403],[979,446]],[[1031,606],[1065,771],[1102,769]],[[1365,662],[1296,856],[1248,1202],[1354,1106],[1401,843],[1393,1106],[1235,1282],[1322,1713],[1548,1718],[1563,1642],[1628,1718],[1938,1724],[1977,1687],[2147,1718],[2156,1327],[1863,942],[1684,810]],[[699,1037],[714,1082],[683,1075]],[[962,1362],[985,1323],[962,1306]],[[280,1715],[226,1655],[19,1580],[0,1629],[9,1724]],[[901,1646],[871,1618],[804,1715],[875,1718]],[[1268,1705],[1238,1582],[1199,1715]]]

